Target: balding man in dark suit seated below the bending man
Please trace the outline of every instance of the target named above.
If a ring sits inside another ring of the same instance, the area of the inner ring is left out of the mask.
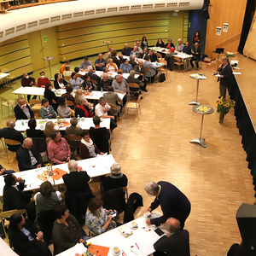
[[[180,230],[177,218],[168,218],[165,225],[168,233],[154,243],[154,256],[189,256],[189,231]]]

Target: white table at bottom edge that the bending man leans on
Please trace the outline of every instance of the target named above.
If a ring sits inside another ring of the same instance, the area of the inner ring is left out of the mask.
[[[158,211],[154,212],[152,215],[152,218],[157,217],[160,217],[160,212]],[[156,226],[148,226],[146,224],[146,218],[144,217],[137,218],[131,222],[136,222],[138,225],[137,230],[132,230],[133,234],[131,236],[122,236],[119,232],[120,227],[117,227],[113,230],[109,230],[108,232],[103,233],[102,235],[95,236],[87,242],[91,242],[92,244],[98,246],[110,247],[108,256],[113,255],[113,247],[119,247],[121,252],[125,252],[127,256],[135,256],[136,254],[146,256],[154,253],[154,242],[160,239],[160,236],[154,232],[154,230],[156,230]],[[131,222],[125,225],[130,228]],[[167,230],[163,225],[161,225],[159,228],[167,233]]]

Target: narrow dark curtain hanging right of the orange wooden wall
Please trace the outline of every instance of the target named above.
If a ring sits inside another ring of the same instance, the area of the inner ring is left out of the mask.
[[[256,0],[247,0],[247,9],[245,11],[243,25],[241,29],[240,43],[237,49],[238,52],[241,53],[241,55],[243,54],[244,45],[247,42],[247,36],[252,24],[255,8],[256,8]]]

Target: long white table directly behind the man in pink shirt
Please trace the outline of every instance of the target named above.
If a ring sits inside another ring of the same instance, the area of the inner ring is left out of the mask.
[[[70,126],[70,119],[62,119],[65,120],[66,122],[69,123],[69,125],[66,124],[66,126],[61,127],[61,125],[57,125],[57,119],[48,119],[48,121],[52,121],[55,123],[55,130],[59,130],[59,131],[65,131],[67,127]],[[24,122],[24,125],[22,125],[22,121]],[[29,129],[27,123],[28,123],[28,119],[25,120],[16,120],[15,122],[15,130],[17,131],[26,131],[26,129]],[[45,119],[37,119],[37,128],[40,129],[41,131],[44,131],[45,129],[45,124],[47,122],[45,121]],[[82,118],[79,121],[78,124],[79,127],[82,128],[82,130],[89,130],[90,127],[94,127],[92,118]],[[101,123],[100,123],[101,127],[106,127],[108,130],[110,128],[110,119],[102,119]]]

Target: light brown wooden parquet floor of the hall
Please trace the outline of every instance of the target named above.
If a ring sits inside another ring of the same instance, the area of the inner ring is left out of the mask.
[[[79,62],[72,63],[72,69]],[[45,71],[47,75],[49,71]],[[200,83],[198,100],[216,110],[217,79],[204,63],[199,72],[207,79]],[[148,85],[148,93],[143,93],[141,101],[141,119],[131,113],[113,131],[112,154],[129,179],[129,194],[143,195],[146,207],[152,198],[143,186],[150,180],[173,183],[188,196],[192,209],[185,228],[190,233],[191,255],[226,255],[234,242],[241,241],[236,211],[241,203],[254,202],[252,177],[233,109],[223,125],[218,124],[218,113],[205,116],[203,137],[207,148],[189,143],[199,137],[201,127],[201,115],[188,105],[195,100],[196,92],[196,82],[189,73],[195,71],[168,71],[164,83]],[[19,86],[20,82],[15,88]],[[11,91],[5,90],[3,96],[14,97]],[[1,127],[7,118],[5,114]],[[15,158],[8,166],[3,150],[0,157],[0,164],[17,171]],[[94,185],[95,189],[98,194],[98,186]]]

